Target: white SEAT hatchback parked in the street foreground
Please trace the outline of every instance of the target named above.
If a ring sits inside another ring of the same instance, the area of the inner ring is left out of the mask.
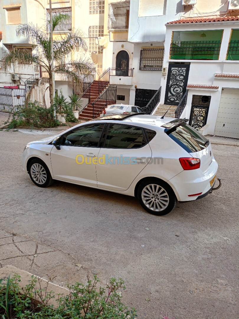
[[[156,215],[205,197],[218,168],[210,142],[185,120],[144,114],[100,117],[31,142],[22,162],[37,186],[59,180],[135,196]]]

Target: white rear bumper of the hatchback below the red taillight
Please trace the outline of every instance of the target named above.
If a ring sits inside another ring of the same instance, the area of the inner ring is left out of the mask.
[[[168,182],[170,182],[179,202],[189,202],[200,199],[208,195],[214,185],[210,185],[210,181],[216,176],[218,164],[213,159],[209,170],[203,174],[200,168],[195,170],[183,171]],[[195,194],[195,196],[193,196]]]

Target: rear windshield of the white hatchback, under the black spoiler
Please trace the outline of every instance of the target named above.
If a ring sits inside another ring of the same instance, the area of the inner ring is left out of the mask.
[[[189,153],[199,152],[209,145],[208,139],[186,123],[177,126],[168,135]]]

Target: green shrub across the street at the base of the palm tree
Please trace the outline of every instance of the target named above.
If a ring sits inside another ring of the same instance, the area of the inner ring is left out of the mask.
[[[45,108],[38,101],[29,102],[28,107],[18,105],[11,120],[10,116],[5,122],[9,123],[9,129],[15,129],[19,126],[55,127],[61,124],[54,117],[53,106]]]

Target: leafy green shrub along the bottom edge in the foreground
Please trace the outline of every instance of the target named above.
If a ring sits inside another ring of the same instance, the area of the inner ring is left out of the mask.
[[[86,285],[76,282],[69,286],[69,294],[55,298],[53,292],[38,289],[37,278],[23,288],[19,287],[21,278],[15,274],[7,281],[0,279],[0,318],[11,319],[125,319],[136,318],[135,309],[128,310],[121,302],[121,289],[125,289],[122,279],[110,279],[106,288],[98,286],[99,279],[88,280]],[[39,281],[40,284],[40,281]]]

